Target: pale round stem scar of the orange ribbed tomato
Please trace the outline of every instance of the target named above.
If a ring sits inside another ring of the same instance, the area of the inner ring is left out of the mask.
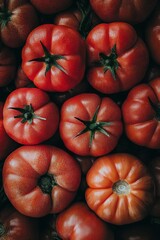
[[[125,180],[119,180],[113,184],[112,190],[118,195],[128,194],[130,192],[130,186]]]

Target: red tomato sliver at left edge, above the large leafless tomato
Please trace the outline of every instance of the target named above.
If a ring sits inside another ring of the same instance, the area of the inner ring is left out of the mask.
[[[0,161],[4,160],[7,155],[16,147],[15,142],[8,136],[3,125],[3,106],[0,102]]]

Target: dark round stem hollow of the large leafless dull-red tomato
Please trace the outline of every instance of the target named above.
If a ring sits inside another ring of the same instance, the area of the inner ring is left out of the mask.
[[[44,174],[38,179],[38,186],[44,194],[50,194],[55,185],[56,181],[52,174]]]

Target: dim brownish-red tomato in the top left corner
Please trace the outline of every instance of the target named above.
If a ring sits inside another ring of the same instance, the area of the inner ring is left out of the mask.
[[[38,26],[38,16],[28,0],[2,0],[0,32],[2,42],[12,48],[21,47],[28,34]]]

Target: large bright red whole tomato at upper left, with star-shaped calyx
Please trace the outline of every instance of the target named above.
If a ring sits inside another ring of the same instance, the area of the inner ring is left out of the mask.
[[[82,80],[85,55],[85,42],[77,31],[43,24],[27,38],[22,50],[22,69],[38,88],[64,92]]]

